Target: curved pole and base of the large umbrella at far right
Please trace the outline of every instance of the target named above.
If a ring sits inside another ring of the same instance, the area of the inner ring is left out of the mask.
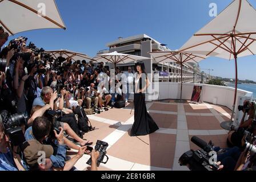
[[[234,104],[232,108],[232,114],[230,121],[225,121],[221,123],[221,127],[225,130],[231,130],[232,125],[233,125],[233,118],[235,114],[235,104],[237,102],[237,82],[238,82],[238,72],[237,72],[237,54],[234,54],[235,57],[235,94],[234,94]]]

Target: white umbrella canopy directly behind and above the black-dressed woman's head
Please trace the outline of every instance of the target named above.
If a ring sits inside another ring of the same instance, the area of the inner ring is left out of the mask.
[[[146,59],[151,59],[151,58],[135,56],[135,55],[128,55],[125,53],[118,53],[116,51],[111,52],[111,53],[105,53],[102,55],[97,55],[93,58],[93,60],[95,60],[97,62],[114,63],[115,67],[117,64],[126,64],[126,63],[130,63],[131,61],[146,60]]]

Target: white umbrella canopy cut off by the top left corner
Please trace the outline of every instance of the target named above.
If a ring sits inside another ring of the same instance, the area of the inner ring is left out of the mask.
[[[0,26],[14,35],[42,28],[65,28],[54,0],[1,0]]]

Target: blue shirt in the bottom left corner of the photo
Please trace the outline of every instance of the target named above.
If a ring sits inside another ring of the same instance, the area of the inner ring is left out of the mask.
[[[10,151],[7,154],[0,153],[0,171],[18,171]]]

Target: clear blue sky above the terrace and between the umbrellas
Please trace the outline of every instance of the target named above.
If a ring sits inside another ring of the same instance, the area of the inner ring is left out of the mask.
[[[56,0],[67,30],[34,30],[17,34],[45,49],[71,49],[95,56],[106,43],[119,36],[126,38],[147,34],[179,49],[195,32],[213,17],[210,3],[216,3],[218,13],[231,0]],[[256,7],[256,1],[250,0]],[[11,39],[11,38],[10,38]],[[211,74],[234,77],[234,61],[210,57],[200,63],[202,69],[214,69]],[[238,59],[238,78],[256,81],[254,56]],[[204,70],[202,70],[204,71]]]

